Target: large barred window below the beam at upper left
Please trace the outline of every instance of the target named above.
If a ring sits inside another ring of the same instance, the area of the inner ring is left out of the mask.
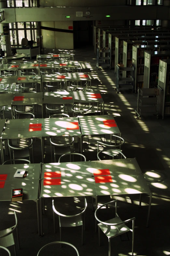
[[[22,38],[27,38],[28,41],[36,41],[38,35],[37,22],[14,22],[9,23],[11,45],[21,44]]]

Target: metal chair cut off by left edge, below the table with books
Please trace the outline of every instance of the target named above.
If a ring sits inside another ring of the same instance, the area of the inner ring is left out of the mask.
[[[14,212],[14,215],[15,215],[15,225],[6,230],[0,230],[0,246],[9,247],[9,246],[14,245],[15,256],[17,256],[15,241],[14,241],[14,237],[13,237],[13,232],[15,230],[17,231],[17,240],[18,240],[18,248],[19,249],[20,249],[20,242],[19,242],[19,236],[18,236],[18,220],[17,220],[16,212]]]

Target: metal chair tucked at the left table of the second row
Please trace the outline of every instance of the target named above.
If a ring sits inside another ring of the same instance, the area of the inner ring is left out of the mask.
[[[33,155],[33,139],[31,138],[31,143],[29,145],[25,145],[25,142],[27,142],[28,139],[25,140],[25,138],[20,139],[20,145],[12,145],[12,140],[8,139],[8,147],[9,147],[9,154],[11,159],[11,150],[13,153],[13,159],[24,159],[25,157],[29,158],[30,160],[30,149],[32,151],[32,158],[34,163],[34,155]]]

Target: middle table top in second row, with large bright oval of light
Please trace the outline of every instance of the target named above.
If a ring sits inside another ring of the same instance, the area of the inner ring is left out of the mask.
[[[78,117],[44,118],[42,137],[47,136],[80,136]]]

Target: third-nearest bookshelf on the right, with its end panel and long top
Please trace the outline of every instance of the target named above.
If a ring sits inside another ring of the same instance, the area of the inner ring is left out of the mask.
[[[137,88],[143,88],[144,77],[144,54],[145,52],[170,50],[170,45],[141,45],[132,46],[132,64],[135,67],[134,87],[135,93]]]

